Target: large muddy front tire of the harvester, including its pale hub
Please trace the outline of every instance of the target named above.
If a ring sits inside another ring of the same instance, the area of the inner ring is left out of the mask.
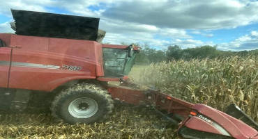
[[[63,90],[52,102],[52,115],[70,124],[103,122],[114,108],[107,90],[81,83]]]

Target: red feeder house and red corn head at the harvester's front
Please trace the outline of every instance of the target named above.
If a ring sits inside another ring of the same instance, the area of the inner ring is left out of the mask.
[[[187,101],[171,97],[164,93],[154,90],[137,90],[129,86],[111,86],[108,87],[109,93],[114,99],[125,101],[129,104],[155,104],[156,108],[167,113],[176,113],[185,117],[185,120],[179,126],[188,126],[190,129],[222,134],[214,126],[197,117],[189,117],[191,111],[196,111],[216,122],[225,129],[231,136],[238,139],[247,139],[257,136],[257,131],[252,127],[237,120],[234,117],[215,110],[204,104],[190,104]],[[168,99],[169,97],[169,99]]]

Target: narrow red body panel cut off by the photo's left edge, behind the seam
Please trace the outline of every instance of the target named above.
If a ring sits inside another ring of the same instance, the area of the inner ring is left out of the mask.
[[[11,48],[0,47],[0,88],[8,88]]]

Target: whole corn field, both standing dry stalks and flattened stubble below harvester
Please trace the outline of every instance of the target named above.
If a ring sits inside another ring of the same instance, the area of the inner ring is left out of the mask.
[[[258,121],[257,60],[257,57],[231,57],[135,66],[130,79],[220,111],[235,103]],[[177,138],[175,131],[151,108],[119,102],[116,102],[113,114],[107,121],[95,124],[56,122],[47,108],[29,108],[24,113],[0,111],[0,139],[167,139]]]

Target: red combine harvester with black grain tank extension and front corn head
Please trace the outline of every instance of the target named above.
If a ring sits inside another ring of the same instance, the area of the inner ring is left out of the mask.
[[[99,43],[105,32],[98,18],[12,13],[16,34],[0,34],[1,108],[22,111],[41,92],[51,96],[56,118],[93,123],[105,120],[118,99],[153,106],[182,138],[258,139],[257,123],[235,105],[223,113],[126,81],[138,47]]]

